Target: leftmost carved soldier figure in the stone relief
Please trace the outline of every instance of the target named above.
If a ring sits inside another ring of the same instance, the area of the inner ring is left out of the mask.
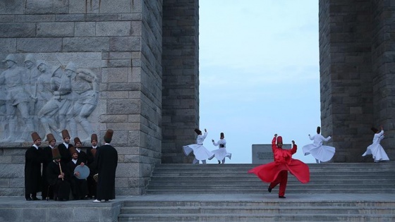
[[[8,68],[0,75],[0,85],[4,84],[6,89],[6,118],[8,120],[8,137],[4,141],[23,142],[25,141],[25,136],[33,131],[33,123],[29,114],[31,98],[27,89],[23,87],[25,69],[16,65],[17,60],[13,54],[6,56],[4,62]],[[23,130],[20,130],[22,134],[17,133],[17,111],[20,112],[24,123],[20,125],[23,128]]]

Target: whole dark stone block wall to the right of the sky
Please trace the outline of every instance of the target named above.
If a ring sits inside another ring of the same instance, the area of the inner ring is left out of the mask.
[[[372,161],[361,155],[372,143],[370,128],[379,125],[388,130],[382,144],[395,158],[392,9],[391,1],[320,0],[322,134],[333,135],[329,144],[336,147],[336,162]]]

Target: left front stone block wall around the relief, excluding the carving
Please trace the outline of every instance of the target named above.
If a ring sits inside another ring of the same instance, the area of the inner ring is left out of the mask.
[[[1,1],[1,60],[8,54],[22,64],[33,54],[51,66],[73,61],[95,70],[99,103],[88,120],[99,143],[107,129],[114,130],[116,195],[143,194],[162,156],[162,1]],[[7,189],[1,195],[23,195],[30,145],[2,144],[0,185]]]

